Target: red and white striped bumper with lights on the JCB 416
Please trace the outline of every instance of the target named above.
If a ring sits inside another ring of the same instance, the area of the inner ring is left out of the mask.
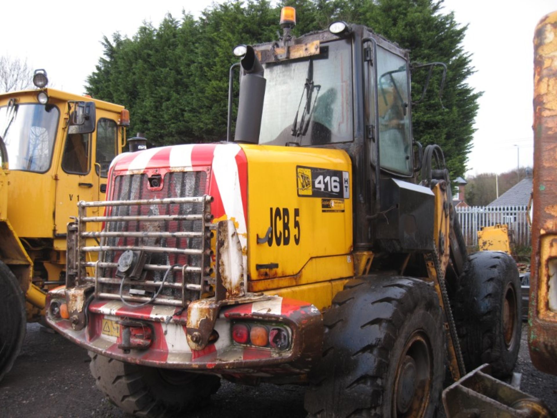
[[[87,325],[74,330],[70,320],[52,315],[49,307],[53,300],[65,300],[63,289],[51,292],[47,298],[46,318],[53,329],[87,350],[124,362],[219,374],[274,376],[307,373],[321,354],[321,313],[309,302],[273,296],[268,300],[224,306],[214,326],[218,339],[196,351],[187,342],[187,310],[182,308],[163,305],[129,308],[121,301],[93,300],[87,308]],[[110,324],[124,319],[150,326],[153,333],[149,348],[131,349],[128,353],[118,348],[119,331],[111,332]],[[107,323],[107,320],[114,322]],[[278,350],[237,344],[231,337],[234,321],[284,325],[291,331],[290,346]]]

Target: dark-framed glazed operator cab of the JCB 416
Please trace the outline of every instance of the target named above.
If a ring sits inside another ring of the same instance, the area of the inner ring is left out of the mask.
[[[382,169],[412,176],[408,52],[364,26],[331,28],[253,47],[266,79],[258,143],[372,149],[378,137]]]

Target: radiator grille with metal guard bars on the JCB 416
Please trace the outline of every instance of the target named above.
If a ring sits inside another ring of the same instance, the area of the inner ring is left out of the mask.
[[[76,230],[75,247],[79,248],[76,284],[94,282],[96,297],[105,299],[120,299],[122,285],[123,300],[147,302],[174,266],[153,302],[187,306],[189,301],[199,299],[208,290],[212,273],[212,199],[204,194],[206,185],[205,171],[169,172],[160,190],[150,187],[146,174],[121,175],[113,184],[113,200],[80,202],[76,227],[69,228]],[[106,206],[105,216],[87,215],[87,208],[99,206]],[[104,223],[102,232],[86,232],[86,224],[92,222]],[[85,245],[87,238],[95,238],[98,244]],[[119,258],[126,250],[141,251],[145,256],[143,271],[136,278],[116,274]],[[87,261],[91,260],[87,253],[99,253],[99,261]],[[93,267],[94,275],[87,276],[87,267]],[[71,281],[70,267],[68,274]]]

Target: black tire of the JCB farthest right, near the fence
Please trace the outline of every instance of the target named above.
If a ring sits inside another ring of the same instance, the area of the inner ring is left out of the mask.
[[[453,314],[466,371],[491,364],[507,377],[519,355],[521,287],[512,258],[499,251],[471,254],[458,280]]]

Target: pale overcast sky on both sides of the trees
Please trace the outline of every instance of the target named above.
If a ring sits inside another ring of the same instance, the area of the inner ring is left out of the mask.
[[[119,31],[131,37],[143,21],[157,27],[165,13],[180,18],[182,9],[199,16],[211,3],[2,1],[0,54],[27,58],[32,68],[46,69],[53,87],[81,94],[102,55],[103,35]],[[517,166],[517,155],[520,166],[531,166],[532,38],[536,23],[557,9],[557,2],[445,0],[444,4],[447,12],[455,12],[457,22],[468,24],[464,47],[473,54],[477,71],[468,81],[484,92],[468,174],[511,170]]]

